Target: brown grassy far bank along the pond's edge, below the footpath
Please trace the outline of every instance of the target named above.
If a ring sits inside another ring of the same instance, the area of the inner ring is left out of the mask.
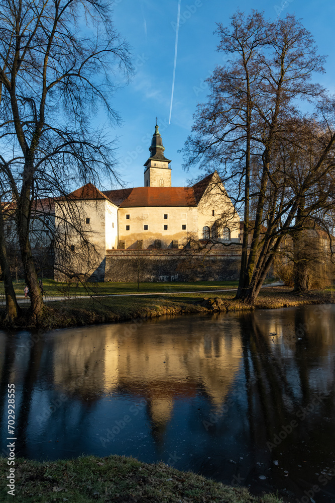
[[[166,314],[194,314],[254,309],[279,309],[310,304],[334,303],[335,297],[324,291],[297,295],[286,286],[262,289],[253,306],[236,301],[233,292],[222,292],[210,297],[203,294],[169,294],[129,297],[95,297],[49,302],[38,326],[33,326],[24,316],[15,326],[4,322],[5,310],[0,311],[4,328],[65,328],[96,323],[149,319]],[[210,294],[209,294],[210,295]]]

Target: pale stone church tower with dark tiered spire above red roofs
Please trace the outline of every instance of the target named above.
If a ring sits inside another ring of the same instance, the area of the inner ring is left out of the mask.
[[[171,160],[164,156],[165,148],[158,131],[157,121],[149,150],[150,157],[144,164],[144,186],[171,187],[171,168],[169,167]]]

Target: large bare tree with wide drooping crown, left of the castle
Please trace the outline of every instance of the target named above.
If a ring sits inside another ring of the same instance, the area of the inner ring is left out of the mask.
[[[43,299],[30,242],[34,201],[64,195],[71,182],[116,178],[113,143],[92,117],[103,107],[118,123],[109,102],[113,76],[118,69],[127,79],[132,68],[110,3],[0,0],[0,11],[1,182],[15,201],[36,318]]]

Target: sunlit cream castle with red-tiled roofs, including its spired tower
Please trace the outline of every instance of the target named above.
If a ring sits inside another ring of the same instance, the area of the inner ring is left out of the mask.
[[[240,216],[217,172],[191,187],[173,187],[157,124],[149,151],[144,187],[101,192],[86,184],[56,201],[56,227],[57,219],[71,220],[77,212],[101,262],[113,249],[183,248],[208,239],[239,243]],[[69,246],[74,251],[74,234]]]

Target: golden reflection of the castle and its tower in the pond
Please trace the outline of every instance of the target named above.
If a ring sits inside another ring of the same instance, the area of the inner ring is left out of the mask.
[[[94,337],[93,328],[78,329],[70,338],[66,333],[57,337],[56,388],[66,393],[75,387],[76,395],[85,400],[121,390],[144,396],[154,424],[169,421],[174,397],[193,396],[199,388],[215,407],[224,403],[241,363],[239,333],[222,338],[217,327],[201,333],[194,326],[194,333],[172,330],[163,339],[157,323],[146,324],[134,336],[128,335],[128,326],[98,327]],[[89,378],[82,379],[87,374]]]

